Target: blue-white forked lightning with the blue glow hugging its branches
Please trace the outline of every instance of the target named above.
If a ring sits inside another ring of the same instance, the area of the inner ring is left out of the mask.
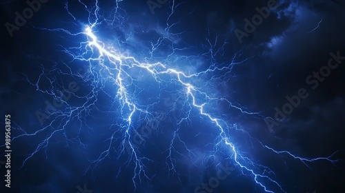
[[[26,79],[29,83],[31,83],[31,85],[34,85],[37,88],[37,90],[44,92],[46,94],[50,94],[55,99],[60,99],[63,102],[63,104],[67,106],[67,108],[65,108],[64,110],[57,110],[54,113],[52,113],[49,117],[54,117],[54,120],[51,121],[49,125],[42,128],[41,130],[38,130],[37,132],[33,133],[28,133],[21,129],[23,134],[14,138],[15,140],[22,136],[36,136],[41,132],[48,131],[50,127],[59,128],[51,132],[46,139],[44,139],[43,141],[41,141],[41,143],[39,143],[39,145],[37,145],[36,150],[34,150],[34,152],[32,152],[32,154],[30,154],[30,156],[28,156],[25,159],[25,161],[23,161],[23,165],[26,163],[26,161],[28,161],[28,159],[32,158],[32,156],[34,156],[34,154],[36,154],[40,150],[47,150],[50,140],[53,138],[53,136],[55,136],[55,134],[57,134],[58,132],[65,133],[66,125],[68,125],[68,123],[71,120],[79,120],[82,123],[84,119],[83,116],[85,116],[86,114],[90,115],[90,107],[98,102],[97,97],[99,97],[99,92],[106,90],[106,83],[111,83],[112,85],[114,85],[113,89],[116,90],[116,94],[114,97],[116,101],[114,101],[113,104],[109,105],[115,105],[115,103],[119,103],[120,108],[119,111],[114,110],[109,111],[108,113],[120,114],[119,116],[121,116],[120,119],[122,122],[110,125],[110,128],[112,126],[115,126],[118,129],[113,132],[112,136],[109,136],[107,140],[108,148],[106,150],[103,150],[103,152],[99,154],[97,159],[90,161],[90,167],[88,168],[88,170],[91,168],[92,164],[95,164],[94,166],[97,166],[97,164],[101,163],[101,161],[109,157],[110,154],[112,154],[112,151],[115,151],[113,148],[113,144],[115,143],[115,141],[121,141],[121,150],[118,152],[119,154],[117,158],[119,159],[119,156],[121,156],[121,154],[123,155],[126,153],[126,143],[129,143],[131,150],[130,156],[128,157],[126,163],[129,164],[131,161],[134,161],[135,163],[134,172],[132,174],[132,182],[135,187],[135,190],[137,189],[138,185],[141,185],[141,181],[143,178],[146,178],[150,181],[152,176],[148,174],[149,172],[146,169],[146,163],[154,161],[152,161],[152,159],[150,159],[148,156],[144,156],[143,154],[141,154],[141,152],[137,150],[137,148],[135,148],[135,144],[132,143],[132,141],[134,140],[133,132],[137,132],[135,130],[135,122],[137,121],[136,117],[138,116],[138,114],[140,116],[144,115],[148,119],[150,119],[153,116],[153,114],[155,114],[155,112],[150,111],[150,108],[153,105],[155,105],[155,103],[143,105],[143,103],[140,102],[140,99],[136,97],[136,94],[141,92],[141,88],[139,88],[139,86],[136,85],[139,79],[137,78],[137,74],[144,74],[143,76],[147,76],[146,78],[152,81],[152,85],[155,85],[159,88],[166,86],[166,83],[172,83],[173,85],[177,85],[179,87],[177,92],[181,94],[181,98],[184,99],[183,107],[184,110],[186,110],[186,113],[181,113],[181,117],[175,123],[175,131],[172,134],[172,139],[169,143],[169,147],[166,150],[166,152],[168,152],[168,156],[166,157],[166,165],[168,167],[169,173],[171,172],[176,174],[179,172],[175,167],[175,159],[173,156],[173,152],[176,152],[177,154],[182,154],[181,152],[175,150],[175,143],[177,141],[181,142],[184,145],[184,148],[188,152],[189,156],[193,154],[195,155],[195,152],[193,152],[193,150],[190,150],[190,148],[188,148],[188,145],[186,145],[186,143],[184,143],[184,141],[181,140],[178,133],[180,130],[181,123],[190,120],[190,114],[192,114],[193,110],[197,110],[201,119],[204,119],[205,121],[206,118],[206,122],[213,123],[214,128],[210,128],[210,130],[217,130],[218,136],[214,144],[216,151],[219,149],[219,147],[226,147],[226,149],[228,150],[226,154],[228,154],[228,158],[233,160],[233,163],[235,164],[237,169],[240,172],[242,172],[243,175],[250,176],[253,179],[253,181],[255,181],[255,183],[259,187],[262,187],[262,189],[265,192],[274,192],[274,190],[272,190],[270,186],[274,186],[275,190],[285,192],[283,186],[277,180],[274,179],[274,175],[271,175],[274,174],[274,172],[270,170],[270,168],[257,163],[257,161],[253,161],[252,159],[248,158],[243,152],[241,152],[241,150],[239,150],[239,145],[237,145],[232,136],[230,136],[229,131],[241,129],[237,128],[236,126],[230,125],[224,119],[218,118],[219,116],[213,114],[212,112],[208,112],[208,109],[210,109],[210,106],[212,106],[217,101],[221,101],[227,103],[234,110],[240,111],[242,114],[262,117],[259,114],[259,112],[250,112],[249,110],[246,110],[246,108],[243,108],[241,105],[237,105],[237,103],[232,103],[226,97],[215,97],[213,96],[213,94],[210,94],[208,91],[204,90],[201,86],[195,84],[195,79],[201,77],[201,75],[204,74],[210,74],[210,76],[212,77],[211,79],[217,80],[217,77],[214,77],[212,75],[213,72],[224,72],[225,75],[223,75],[222,77],[226,77],[226,75],[233,70],[235,65],[240,65],[252,59],[253,57],[248,57],[246,59],[239,60],[239,57],[241,57],[242,55],[242,51],[239,51],[235,54],[233,60],[228,65],[223,65],[219,67],[213,64],[210,65],[210,67],[206,70],[201,70],[200,72],[193,73],[187,73],[183,70],[179,70],[178,68],[170,68],[169,65],[166,65],[166,63],[164,63],[164,59],[162,59],[161,62],[157,63],[141,62],[141,60],[137,59],[137,57],[133,57],[131,54],[128,54],[127,52],[121,52],[120,49],[117,49],[117,46],[114,46],[112,43],[104,41],[101,37],[97,36],[97,26],[100,26],[101,23],[104,20],[106,20],[103,19],[103,17],[99,13],[100,8],[98,5],[98,1],[96,1],[95,8],[93,11],[91,11],[92,9],[88,8],[88,6],[86,6],[86,4],[82,3],[81,1],[79,1],[79,3],[81,3],[86,8],[86,10],[88,10],[90,17],[95,17],[95,21],[92,21],[92,19],[90,19],[89,17],[89,23],[86,27],[83,28],[83,31],[73,33],[69,30],[65,30],[62,28],[40,29],[55,32],[63,32],[72,37],[81,35],[87,38],[86,41],[82,41],[79,44],[79,47],[66,48],[63,46],[63,51],[72,56],[74,60],[87,61],[89,63],[86,69],[88,70],[90,77],[83,78],[87,79],[88,81],[92,80],[92,89],[90,90],[90,93],[86,94],[85,96],[79,96],[77,94],[72,93],[73,96],[79,99],[85,99],[85,103],[83,103],[82,105],[72,106],[66,103],[66,101],[63,101],[63,99],[61,99],[61,96],[58,96],[57,93],[46,92],[40,89],[39,82],[41,81],[41,77],[43,77],[44,75],[44,70],[42,70],[42,74],[36,83],[32,83],[32,81],[29,81],[28,78]],[[118,3],[119,1],[116,1],[115,13],[117,13],[117,10],[120,9]],[[175,1],[172,1],[170,3],[171,12],[169,14],[168,20],[170,19],[172,14],[174,14],[177,6],[179,6],[179,4],[175,4]],[[65,8],[70,17],[72,17],[73,20],[76,20],[74,14],[72,14],[68,10],[68,2],[66,2]],[[115,19],[119,18],[114,17],[113,19],[108,20],[115,21]],[[321,22],[322,20],[319,23]],[[172,28],[172,26],[175,25],[177,25],[177,23],[174,23],[172,25],[167,24],[167,27],[164,30],[164,32],[168,34],[167,37],[178,35],[169,32],[170,28]],[[319,24],[317,28],[318,27]],[[313,30],[311,32],[313,32]],[[150,50],[150,58],[152,58],[153,52],[158,48],[159,45],[161,45],[162,41],[163,39],[159,39],[157,43],[152,43],[152,49]],[[215,54],[219,54],[219,52],[222,52],[222,48],[224,48],[224,46],[226,45],[226,42],[224,42],[221,45],[221,49],[213,50],[212,48],[215,47],[215,44],[218,42],[218,40],[216,39],[215,43],[212,43],[209,39],[207,39],[207,41],[210,46],[208,53],[210,54],[210,56],[214,56]],[[83,52],[81,54],[75,54],[73,52],[74,50],[83,50]],[[60,74],[66,74],[66,72],[64,73],[61,70],[57,71]],[[78,76],[78,74],[73,74],[72,70],[69,75]],[[50,80],[51,83],[53,81],[55,80]],[[133,87],[135,89],[133,89]],[[54,88],[52,90],[54,90]],[[139,92],[137,90],[139,90]],[[108,96],[110,97],[113,97],[112,94],[109,94],[109,92],[106,92],[106,94],[108,94]],[[79,130],[81,130],[81,127],[79,128]],[[248,137],[251,137],[250,134],[248,134],[248,132],[246,132],[245,130],[241,131],[246,133]],[[66,139],[68,139],[67,136]],[[75,140],[81,143],[79,139]],[[293,159],[298,159],[307,167],[309,167],[308,163],[313,161],[326,160],[331,163],[335,163],[336,161],[338,161],[332,159],[332,157],[335,154],[332,154],[328,157],[306,159],[299,156],[295,156],[294,154],[288,151],[274,150],[273,148],[270,148],[259,141],[257,141],[257,143],[261,145],[262,148],[266,148],[267,150],[270,150],[279,156],[284,156],[284,154],[286,154],[292,157]],[[85,146],[83,143],[81,144]],[[213,156],[213,154],[210,154],[209,156]],[[88,170],[86,172],[88,172]]]

